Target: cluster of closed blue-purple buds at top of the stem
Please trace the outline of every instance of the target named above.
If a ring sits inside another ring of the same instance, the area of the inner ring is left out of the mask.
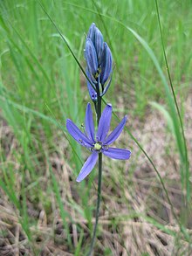
[[[87,87],[93,101],[97,100],[97,90],[102,97],[112,80],[112,52],[104,42],[103,35],[93,23],[86,38],[86,75],[88,77]],[[91,81],[91,83],[90,83]],[[96,90],[94,89],[96,88]]]

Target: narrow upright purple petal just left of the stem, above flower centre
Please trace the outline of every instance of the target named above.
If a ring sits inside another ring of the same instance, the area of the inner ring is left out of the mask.
[[[88,103],[86,107],[86,135],[94,143],[94,123],[93,123],[93,113],[91,104]]]

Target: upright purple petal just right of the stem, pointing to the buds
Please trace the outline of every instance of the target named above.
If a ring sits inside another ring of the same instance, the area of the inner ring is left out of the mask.
[[[99,128],[96,138],[99,142],[104,142],[106,135],[110,128],[110,122],[112,118],[112,105],[107,104],[99,120]]]

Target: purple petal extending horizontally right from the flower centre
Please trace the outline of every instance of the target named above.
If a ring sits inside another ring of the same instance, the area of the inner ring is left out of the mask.
[[[103,150],[102,153],[113,159],[127,160],[131,156],[131,151],[128,149],[108,148]]]

